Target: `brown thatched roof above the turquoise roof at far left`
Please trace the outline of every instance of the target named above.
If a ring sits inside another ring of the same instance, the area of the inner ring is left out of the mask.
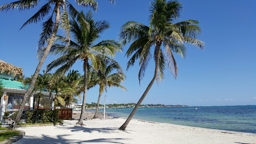
[[[13,73],[13,76],[23,75],[22,68],[18,68],[4,60],[0,60],[0,72],[7,72],[8,74]]]

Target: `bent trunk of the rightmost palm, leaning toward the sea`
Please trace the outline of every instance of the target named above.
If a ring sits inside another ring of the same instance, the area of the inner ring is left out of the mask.
[[[153,85],[154,81],[156,80],[156,75],[157,75],[157,69],[159,67],[159,51],[160,51],[160,46],[158,45],[156,47],[156,68],[155,68],[155,73],[154,73],[154,77],[151,80],[151,82],[148,84],[147,89],[145,90],[145,92],[142,94],[140,100],[137,102],[137,104],[135,105],[135,107],[133,108],[131,114],[128,116],[128,118],[126,119],[126,121],[124,122],[124,124],[119,128],[119,130],[125,130],[125,128],[127,127],[127,125],[129,124],[129,122],[132,120],[132,117],[135,115],[137,109],[139,108],[141,102],[144,100],[144,98],[146,97],[146,95],[148,94],[149,89],[151,88],[151,86]]]

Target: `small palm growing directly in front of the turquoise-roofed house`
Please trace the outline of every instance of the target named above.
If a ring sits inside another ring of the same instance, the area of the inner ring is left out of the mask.
[[[47,91],[50,92],[50,96],[52,94],[52,90],[51,90],[51,87],[50,87],[50,84],[49,84],[49,80],[50,80],[50,77],[52,76],[52,74],[50,73],[46,73],[45,71],[43,71],[43,75],[42,74],[39,74],[37,76],[37,79],[36,79],[36,83],[32,89],[32,92],[31,92],[31,95],[36,92],[36,91],[40,91],[38,94],[37,94],[37,97],[38,97],[38,101],[37,101],[37,108],[36,108],[36,115],[35,115],[35,120],[34,120],[34,123],[36,123],[36,118],[37,118],[37,113],[38,113],[38,108],[39,108],[39,102],[40,102],[40,98],[44,96],[44,94],[42,94],[42,91],[44,89],[46,89]],[[27,84],[30,84],[31,81],[33,79],[33,75],[31,77],[28,77],[26,78],[24,81],[23,81],[23,86],[26,87]]]

